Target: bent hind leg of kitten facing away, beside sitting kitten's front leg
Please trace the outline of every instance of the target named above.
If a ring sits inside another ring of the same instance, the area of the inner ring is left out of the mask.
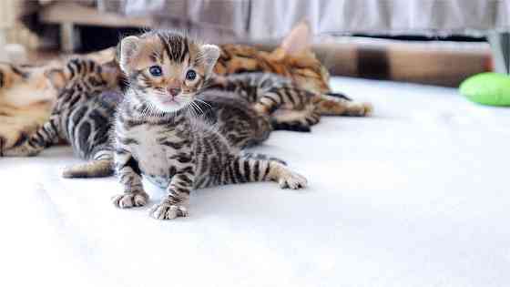
[[[62,176],[66,179],[103,178],[113,174],[113,152],[110,149],[100,149],[91,161],[64,169]]]

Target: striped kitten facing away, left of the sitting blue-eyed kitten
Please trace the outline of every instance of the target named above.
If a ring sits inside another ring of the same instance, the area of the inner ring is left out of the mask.
[[[66,67],[47,72],[59,91],[49,119],[30,137],[5,149],[7,157],[35,156],[52,144],[65,140],[85,165],[64,171],[64,177],[99,177],[112,174],[112,150],[108,140],[111,120],[119,98],[104,94],[118,86],[120,71],[116,65],[98,65],[86,58],[74,58]]]

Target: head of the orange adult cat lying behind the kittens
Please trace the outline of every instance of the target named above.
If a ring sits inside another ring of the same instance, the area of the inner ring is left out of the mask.
[[[327,93],[330,74],[311,50],[311,28],[303,21],[295,26],[280,46],[267,55],[270,61],[288,67],[291,78],[303,88]]]

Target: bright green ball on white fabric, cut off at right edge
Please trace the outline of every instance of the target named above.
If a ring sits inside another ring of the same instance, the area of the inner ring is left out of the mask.
[[[510,106],[510,77],[497,73],[482,73],[468,77],[459,87],[470,100],[490,106]]]

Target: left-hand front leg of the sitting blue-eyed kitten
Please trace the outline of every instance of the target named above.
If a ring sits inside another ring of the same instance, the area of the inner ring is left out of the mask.
[[[117,148],[114,152],[115,171],[119,182],[124,187],[124,194],[112,198],[113,204],[120,209],[144,206],[148,201],[148,194],[143,189],[142,172],[138,161],[133,158],[128,149]]]

